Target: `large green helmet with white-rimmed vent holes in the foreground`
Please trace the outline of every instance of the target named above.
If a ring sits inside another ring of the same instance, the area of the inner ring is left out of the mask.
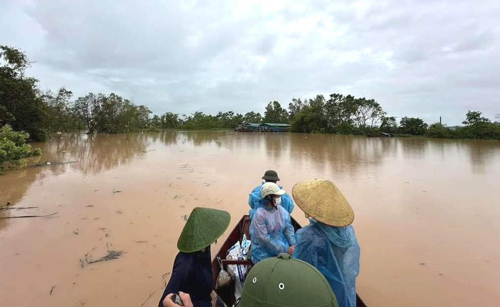
[[[246,276],[237,307],[338,307],[324,276],[282,253],[257,263]]]

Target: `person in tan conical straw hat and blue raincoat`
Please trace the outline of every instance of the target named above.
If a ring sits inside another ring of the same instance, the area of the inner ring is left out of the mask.
[[[351,206],[328,180],[299,182],[291,194],[310,217],[310,224],[295,234],[293,257],[313,265],[326,277],[339,307],[355,307],[360,250],[350,225],[354,220]]]

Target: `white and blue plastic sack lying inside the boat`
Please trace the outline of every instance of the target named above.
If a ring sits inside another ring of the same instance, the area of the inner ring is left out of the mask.
[[[227,251],[226,259],[232,260],[246,260],[248,250],[250,249],[251,242],[246,239],[246,235],[243,235],[241,239],[241,244],[239,242],[234,243],[234,245]],[[234,298],[237,300],[241,297],[241,292],[243,291],[243,282],[245,279],[246,271],[248,266],[246,265],[228,265],[227,271],[234,280]]]

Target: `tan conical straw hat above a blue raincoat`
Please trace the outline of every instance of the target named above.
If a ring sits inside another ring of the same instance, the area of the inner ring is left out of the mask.
[[[329,180],[298,182],[291,189],[291,195],[305,214],[323,224],[343,227],[354,220],[351,206],[342,192]]]

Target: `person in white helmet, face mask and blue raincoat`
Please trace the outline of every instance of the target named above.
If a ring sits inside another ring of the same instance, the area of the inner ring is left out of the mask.
[[[275,257],[279,253],[293,253],[295,235],[290,215],[276,200],[285,193],[275,183],[266,182],[260,189],[264,207],[257,208],[250,222],[251,261]]]

